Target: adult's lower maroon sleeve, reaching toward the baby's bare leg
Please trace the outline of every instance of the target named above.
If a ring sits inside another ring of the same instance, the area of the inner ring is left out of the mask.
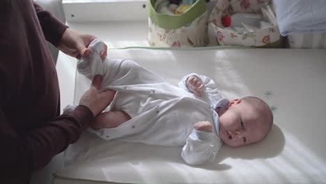
[[[69,115],[61,115],[24,137],[15,134],[0,109],[1,178],[29,177],[79,138],[93,121],[88,107],[79,105]],[[3,177],[2,177],[3,176]]]

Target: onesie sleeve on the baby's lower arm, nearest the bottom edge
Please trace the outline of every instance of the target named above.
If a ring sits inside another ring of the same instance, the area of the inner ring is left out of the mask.
[[[212,162],[221,146],[221,139],[214,133],[194,130],[183,146],[181,157],[192,165]]]

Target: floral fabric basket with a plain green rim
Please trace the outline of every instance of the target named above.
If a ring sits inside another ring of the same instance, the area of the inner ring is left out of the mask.
[[[205,0],[197,0],[182,15],[155,11],[148,3],[148,43],[151,47],[202,47],[209,43],[208,12]]]

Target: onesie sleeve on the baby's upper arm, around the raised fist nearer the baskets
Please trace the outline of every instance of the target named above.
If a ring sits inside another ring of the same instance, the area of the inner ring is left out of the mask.
[[[210,102],[211,105],[217,105],[217,102],[222,99],[221,93],[217,90],[217,86],[215,82],[205,75],[198,75],[196,73],[191,73],[183,77],[183,79],[179,82],[179,87],[185,89],[189,93],[192,93],[187,87],[187,79],[190,76],[197,77],[201,80],[201,83],[204,85],[204,88],[201,90],[201,95]]]

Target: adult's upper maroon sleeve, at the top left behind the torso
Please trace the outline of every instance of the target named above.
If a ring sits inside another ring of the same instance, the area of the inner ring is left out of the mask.
[[[37,3],[33,2],[33,5],[45,39],[47,39],[49,43],[52,43],[52,45],[58,46],[62,33],[68,26],[56,19],[48,10],[43,10]]]

